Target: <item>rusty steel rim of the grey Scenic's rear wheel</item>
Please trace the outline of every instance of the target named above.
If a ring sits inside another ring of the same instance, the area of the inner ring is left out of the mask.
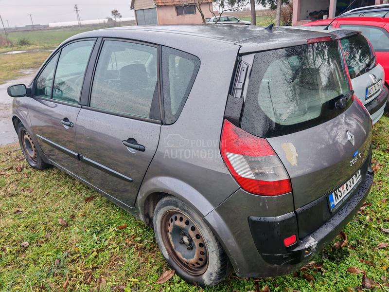
[[[175,263],[193,276],[208,268],[208,249],[200,229],[188,215],[167,211],[161,220],[162,241]]]

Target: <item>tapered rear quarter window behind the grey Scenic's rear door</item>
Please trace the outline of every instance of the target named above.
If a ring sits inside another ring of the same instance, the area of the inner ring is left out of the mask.
[[[165,123],[177,121],[200,68],[194,55],[162,47],[162,83]]]

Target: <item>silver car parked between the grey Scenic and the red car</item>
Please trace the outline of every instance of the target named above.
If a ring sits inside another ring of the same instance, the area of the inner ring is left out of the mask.
[[[329,28],[327,31],[316,26],[295,28],[330,32],[340,39],[355,95],[371,114],[373,125],[378,122],[385,111],[388,88],[385,86],[384,68],[378,64],[369,41],[357,31],[337,28]]]

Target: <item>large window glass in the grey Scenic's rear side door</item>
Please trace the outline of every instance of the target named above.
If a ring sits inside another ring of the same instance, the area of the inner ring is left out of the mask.
[[[90,107],[160,119],[157,48],[105,40],[93,78]]]

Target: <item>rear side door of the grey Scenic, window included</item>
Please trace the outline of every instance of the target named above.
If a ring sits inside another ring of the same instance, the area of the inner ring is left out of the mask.
[[[83,177],[133,206],[159,142],[158,46],[104,39],[77,118]]]

